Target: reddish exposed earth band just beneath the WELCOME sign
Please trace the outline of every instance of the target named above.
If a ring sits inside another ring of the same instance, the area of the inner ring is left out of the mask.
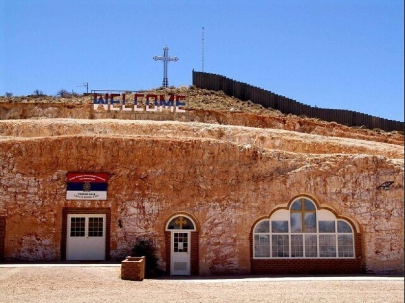
[[[355,138],[404,146],[404,135],[378,133],[367,129],[353,129],[331,122],[300,118],[293,115],[258,114],[224,110],[188,109],[185,113],[122,113],[94,111],[89,97],[80,102],[24,102],[7,103],[0,99],[0,120],[8,119],[125,119],[201,122],[209,124],[248,126],[260,129],[279,129],[339,138]]]

